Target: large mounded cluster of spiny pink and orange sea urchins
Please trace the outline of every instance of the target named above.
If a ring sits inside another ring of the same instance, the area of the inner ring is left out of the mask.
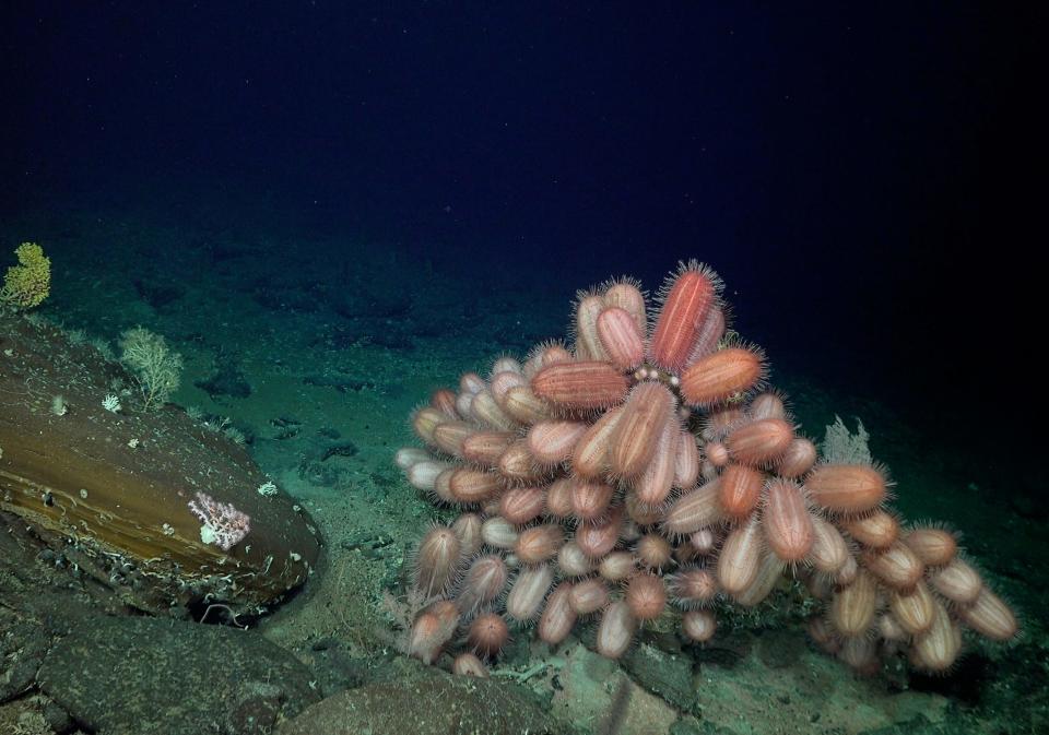
[[[428,604],[412,655],[458,650],[455,671],[484,675],[510,625],[535,623],[556,644],[587,618],[613,659],[663,615],[707,641],[715,601],[756,605],[785,573],[824,601],[813,639],[859,671],[901,651],[947,669],[963,625],[1016,633],[948,531],[901,529],[882,469],[821,459],[779,395],[761,392],[763,355],[726,336],[720,291],[712,271],[683,264],[651,322],[630,281],[582,293],[570,349],[500,358],[414,414],[426,449],[398,464],[462,514],[416,552]]]

